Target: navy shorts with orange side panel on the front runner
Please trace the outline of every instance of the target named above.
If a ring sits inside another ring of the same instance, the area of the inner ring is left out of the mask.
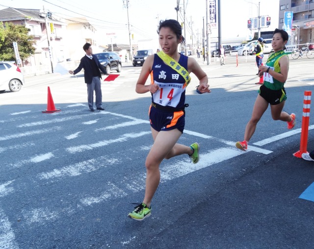
[[[185,125],[185,112],[182,111],[163,111],[150,106],[149,121],[157,132],[178,129],[183,133]]]

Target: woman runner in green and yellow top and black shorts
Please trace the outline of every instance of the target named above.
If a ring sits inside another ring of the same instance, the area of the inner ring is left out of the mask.
[[[264,83],[261,85],[259,95],[256,98],[252,117],[246,125],[244,140],[235,143],[238,149],[247,150],[248,142],[255,132],[257,123],[269,104],[271,116],[274,120],[287,122],[288,129],[292,129],[295,125],[295,114],[291,113],[289,115],[283,111],[287,99],[284,84],[289,70],[289,58],[284,52],[287,42],[288,33],[285,30],[276,28],[271,42],[274,53],[269,55],[266,65],[259,66],[259,76],[264,77]]]

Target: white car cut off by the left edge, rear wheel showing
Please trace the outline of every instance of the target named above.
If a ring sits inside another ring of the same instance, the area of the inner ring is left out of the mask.
[[[24,75],[21,69],[9,61],[0,61],[0,92],[10,89],[20,91],[24,85]]]

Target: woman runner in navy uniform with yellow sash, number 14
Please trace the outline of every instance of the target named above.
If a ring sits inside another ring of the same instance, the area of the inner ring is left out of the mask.
[[[135,91],[152,94],[149,108],[154,144],[146,158],[146,185],[142,203],[129,213],[131,219],[141,221],[151,215],[151,201],[160,182],[159,165],[164,159],[186,154],[191,161],[198,163],[200,145],[195,142],[190,146],[177,143],[185,125],[185,89],[190,82],[190,73],[196,75],[199,85],[197,93],[209,93],[208,76],[199,63],[192,57],[178,53],[179,44],[185,42],[182,27],[176,20],[160,21],[158,54],[150,55],[145,60]],[[145,85],[151,76],[151,84]],[[135,204],[135,203],[134,203]]]

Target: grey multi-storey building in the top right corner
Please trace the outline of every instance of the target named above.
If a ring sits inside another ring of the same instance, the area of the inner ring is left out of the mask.
[[[314,43],[314,1],[280,0],[279,5],[279,28],[284,28],[285,12],[293,12],[289,44]]]

